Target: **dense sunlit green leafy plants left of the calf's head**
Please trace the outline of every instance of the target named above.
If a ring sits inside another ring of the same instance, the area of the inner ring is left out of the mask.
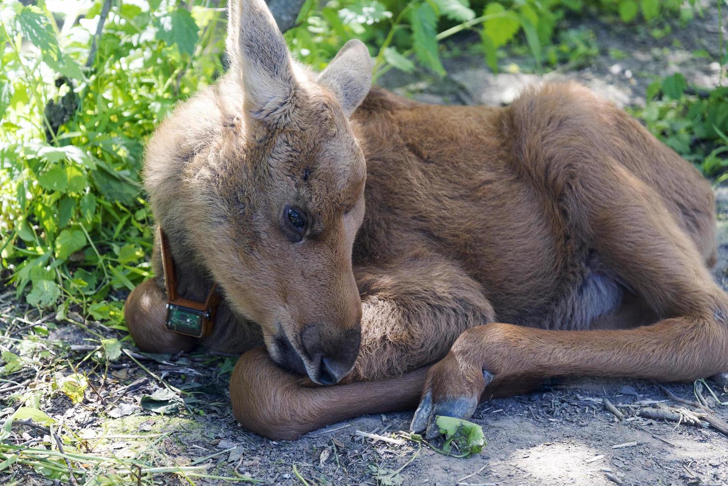
[[[143,143],[220,71],[224,12],[209,0],[3,0],[0,21],[5,276],[31,306],[62,300],[63,316],[79,303],[119,323],[109,296],[150,271]]]

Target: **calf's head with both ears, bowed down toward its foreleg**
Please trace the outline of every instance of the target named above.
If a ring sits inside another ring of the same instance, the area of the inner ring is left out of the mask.
[[[232,306],[261,325],[275,362],[333,384],[360,342],[352,245],[366,168],[348,116],[371,86],[371,58],[350,41],[325,71],[307,71],[262,0],[235,4],[228,30],[243,97],[195,196],[205,262]]]

